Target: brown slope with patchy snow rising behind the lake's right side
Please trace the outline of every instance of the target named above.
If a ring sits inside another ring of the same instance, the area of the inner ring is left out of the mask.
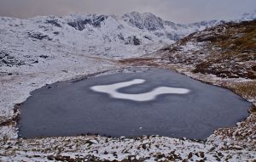
[[[217,25],[173,44],[165,57],[195,73],[256,79],[255,29],[256,20]]]

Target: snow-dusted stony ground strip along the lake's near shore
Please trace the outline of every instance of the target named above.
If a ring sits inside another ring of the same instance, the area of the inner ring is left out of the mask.
[[[192,142],[170,137],[55,137],[2,142],[4,161],[44,161],[49,159],[140,159],[141,161],[244,161],[255,159],[251,148],[236,148],[232,144]],[[11,148],[9,147],[11,146]]]

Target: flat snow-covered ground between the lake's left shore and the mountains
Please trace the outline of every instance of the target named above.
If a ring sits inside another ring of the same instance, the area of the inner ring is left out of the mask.
[[[29,97],[30,92],[45,84],[114,68],[116,65],[109,60],[76,55],[72,57],[59,56],[58,59],[50,60],[46,64],[1,67],[3,70],[0,74],[1,123],[12,120],[15,116],[15,104],[22,103]],[[13,130],[13,135],[11,131],[3,131],[7,127],[15,129],[13,126],[1,126],[1,137],[16,137],[15,130]]]

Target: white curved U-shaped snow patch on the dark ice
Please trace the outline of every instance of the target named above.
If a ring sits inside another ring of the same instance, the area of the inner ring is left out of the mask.
[[[138,94],[127,94],[118,92],[120,88],[130,87],[132,85],[142,84],[145,82],[143,79],[134,79],[131,81],[119,82],[110,85],[90,87],[95,92],[108,93],[112,98],[128,99],[132,101],[150,101],[154,100],[160,94],[186,94],[189,89],[176,88],[176,87],[156,87],[150,92],[143,92]]]

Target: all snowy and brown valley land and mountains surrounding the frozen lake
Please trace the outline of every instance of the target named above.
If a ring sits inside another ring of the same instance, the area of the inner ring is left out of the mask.
[[[154,14],[74,14],[0,22],[0,159],[5,161],[253,161],[255,17],[180,25]],[[174,70],[230,89],[250,115],[206,140],[161,136],[18,138],[20,104],[40,87],[129,67]]]

